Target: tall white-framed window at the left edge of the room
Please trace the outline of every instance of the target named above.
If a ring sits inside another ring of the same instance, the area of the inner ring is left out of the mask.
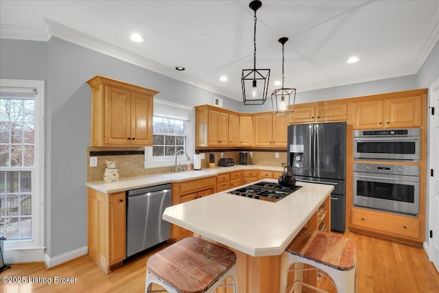
[[[0,207],[11,214],[8,249],[43,247],[43,96],[43,81],[1,80]]]

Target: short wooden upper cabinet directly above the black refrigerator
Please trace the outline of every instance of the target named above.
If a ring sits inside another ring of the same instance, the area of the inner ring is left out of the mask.
[[[346,102],[324,102],[298,104],[290,115],[290,124],[346,121],[348,107]]]

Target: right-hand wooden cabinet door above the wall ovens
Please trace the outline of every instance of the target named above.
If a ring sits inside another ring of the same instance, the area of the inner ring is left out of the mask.
[[[421,98],[399,97],[385,99],[385,124],[386,128],[421,126]]]

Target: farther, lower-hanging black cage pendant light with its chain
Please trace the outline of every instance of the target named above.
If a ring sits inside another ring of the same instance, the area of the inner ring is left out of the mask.
[[[283,87],[283,73],[285,63],[285,43],[288,38],[279,38],[278,42],[282,44],[282,88],[275,89],[272,93],[272,105],[274,115],[276,114],[290,114],[294,111],[294,102],[296,101],[296,89],[285,89]],[[293,95],[293,96],[292,96]],[[292,106],[290,104],[292,102]]]

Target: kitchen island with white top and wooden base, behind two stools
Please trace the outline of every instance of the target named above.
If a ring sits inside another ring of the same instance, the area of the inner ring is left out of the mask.
[[[302,188],[278,202],[219,192],[168,207],[163,220],[232,248],[239,292],[278,292],[280,255],[289,242],[304,226],[329,230],[331,223],[333,186],[298,185]]]

